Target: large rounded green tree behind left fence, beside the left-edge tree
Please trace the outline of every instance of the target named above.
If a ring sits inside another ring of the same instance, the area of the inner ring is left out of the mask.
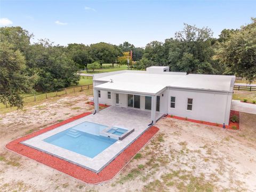
[[[77,64],[63,50],[62,46],[53,46],[47,39],[31,45],[27,66],[38,73],[38,90],[56,91],[78,84]]]

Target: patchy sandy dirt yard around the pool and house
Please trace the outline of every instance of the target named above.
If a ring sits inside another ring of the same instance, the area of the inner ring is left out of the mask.
[[[241,114],[241,131],[162,118],[160,131],[116,177],[86,185],[7,151],[11,140],[92,111],[81,93],[0,115],[0,191],[256,191],[256,115]]]

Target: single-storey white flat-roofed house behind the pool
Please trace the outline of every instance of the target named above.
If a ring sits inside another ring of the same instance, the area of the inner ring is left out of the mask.
[[[235,76],[122,70],[94,74],[95,113],[99,103],[151,111],[153,124],[170,114],[228,125]]]

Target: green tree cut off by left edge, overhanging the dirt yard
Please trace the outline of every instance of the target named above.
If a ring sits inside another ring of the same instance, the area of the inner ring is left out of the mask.
[[[0,101],[10,106],[23,107],[21,93],[31,92],[37,76],[28,76],[26,60],[15,46],[0,42]]]

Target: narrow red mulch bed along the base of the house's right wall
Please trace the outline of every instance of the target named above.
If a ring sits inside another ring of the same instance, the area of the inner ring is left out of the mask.
[[[230,110],[230,118],[233,116],[233,115],[237,115],[239,117],[239,111],[234,111],[234,110]],[[195,119],[189,119],[189,118],[184,118],[184,117],[178,117],[178,116],[172,116],[171,115],[167,115],[167,117],[170,117],[170,118],[175,118],[175,119],[180,119],[180,120],[185,120],[185,121],[189,121],[189,122],[193,122],[193,123],[200,123],[200,124],[204,124],[204,125],[211,125],[211,126],[217,126],[217,127],[222,127],[223,125],[222,124],[217,124],[217,123],[211,123],[211,122],[205,122],[205,121],[199,121],[199,120],[195,120]],[[226,129],[231,129],[233,130],[233,126],[236,126],[236,129],[235,130],[239,130],[240,127],[239,127],[239,122],[238,123],[233,123],[230,121],[229,119],[229,125],[226,125]]]

